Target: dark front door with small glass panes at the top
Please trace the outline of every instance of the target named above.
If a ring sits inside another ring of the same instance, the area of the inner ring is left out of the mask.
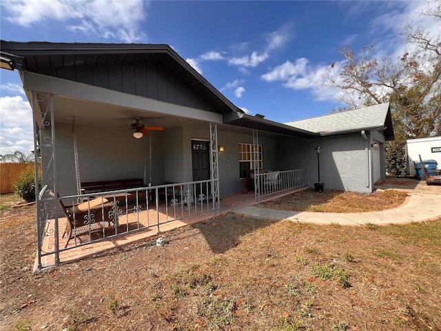
[[[209,141],[192,141],[193,181],[205,181],[209,175]],[[210,194],[211,185],[203,183],[196,185],[196,196],[207,197]],[[204,198],[205,199],[205,198]]]

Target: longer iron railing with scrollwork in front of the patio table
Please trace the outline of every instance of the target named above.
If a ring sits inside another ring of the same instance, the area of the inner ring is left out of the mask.
[[[212,187],[218,187],[212,181],[217,180],[68,197],[57,197],[53,191],[43,189],[40,201],[49,216],[43,231],[41,257],[140,230],[161,232],[166,223],[206,212],[215,216],[220,210],[220,199],[218,194],[212,194]]]

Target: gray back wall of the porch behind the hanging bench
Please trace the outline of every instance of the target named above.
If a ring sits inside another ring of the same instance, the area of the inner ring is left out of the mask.
[[[57,183],[60,194],[76,194],[72,126],[55,123]],[[150,181],[149,138],[134,139],[130,130],[76,128],[81,181],[145,178]],[[163,132],[152,134],[152,185],[164,181]]]

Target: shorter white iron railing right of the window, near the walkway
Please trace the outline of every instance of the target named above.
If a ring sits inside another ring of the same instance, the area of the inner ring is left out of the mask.
[[[271,194],[308,185],[306,169],[265,172],[263,174],[257,174],[255,181],[255,186],[259,188],[256,190],[256,202]]]

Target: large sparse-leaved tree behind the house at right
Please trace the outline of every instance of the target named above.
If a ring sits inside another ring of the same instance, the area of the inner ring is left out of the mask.
[[[441,22],[441,2],[429,2],[422,14]],[[441,132],[441,37],[410,25],[404,34],[406,51],[398,61],[377,58],[373,45],[359,54],[345,45],[340,52],[346,64],[339,77],[332,72],[334,65],[325,75],[329,86],[342,90],[340,101],[349,109],[390,102],[396,140],[387,144],[386,166],[392,174],[405,164],[406,139]]]

